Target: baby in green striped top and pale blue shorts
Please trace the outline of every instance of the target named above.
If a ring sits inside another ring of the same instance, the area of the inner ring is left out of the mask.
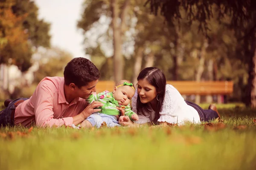
[[[120,126],[117,119],[120,116],[120,111],[116,107],[121,107],[125,111],[125,115],[129,116],[132,121],[138,121],[139,117],[131,111],[130,101],[135,94],[134,85],[128,80],[121,80],[116,84],[113,92],[103,91],[99,94],[91,94],[86,101],[90,104],[94,101],[99,101],[104,104],[100,112],[91,114],[81,127],[101,127],[105,122],[108,127]]]

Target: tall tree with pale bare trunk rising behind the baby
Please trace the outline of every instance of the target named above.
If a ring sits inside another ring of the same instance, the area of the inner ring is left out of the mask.
[[[123,79],[124,59],[122,56],[122,46],[129,3],[130,0],[111,0],[110,3],[104,0],[86,0],[84,2],[84,13],[77,24],[77,27],[82,28],[84,34],[86,34],[93,26],[99,24],[102,16],[111,18],[110,26],[112,28],[111,34],[113,34],[113,72],[115,82]],[[87,37],[85,36],[86,40]]]

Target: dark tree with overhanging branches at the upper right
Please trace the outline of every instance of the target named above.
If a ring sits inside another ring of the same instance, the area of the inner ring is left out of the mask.
[[[250,48],[249,54],[249,69],[248,69],[248,97],[250,98],[249,105],[256,108],[256,1],[253,0],[147,0],[151,12],[157,14],[160,9],[161,14],[166,18],[167,22],[171,23],[175,19],[182,19],[180,7],[183,7],[186,12],[186,18],[193,21],[199,21],[199,31],[209,38],[207,30],[209,30],[207,20],[212,17],[213,12],[217,13],[219,20],[230,17],[231,28],[241,29],[244,25],[247,26],[247,31],[243,35],[243,39],[249,39]],[[217,8],[212,8],[212,6]],[[241,37],[240,37],[241,38]],[[249,45],[249,44],[248,44]],[[248,47],[246,47],[248,48]]]

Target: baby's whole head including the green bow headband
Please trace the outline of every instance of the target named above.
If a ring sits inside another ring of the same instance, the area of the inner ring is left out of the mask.
[[[113,89],[113,97],[120,105],[127,106],[135,94],[134,85],[128,80],[121,80]]]

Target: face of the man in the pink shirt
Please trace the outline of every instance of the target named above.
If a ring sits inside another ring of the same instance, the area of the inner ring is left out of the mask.
[[[88,97],[93,93],[96,92],[96,84],[99,80],[95,80],[89,82],[87,85],[81,86],[81,88],[76,89],[76,94],[82,99],[88,99]]]

